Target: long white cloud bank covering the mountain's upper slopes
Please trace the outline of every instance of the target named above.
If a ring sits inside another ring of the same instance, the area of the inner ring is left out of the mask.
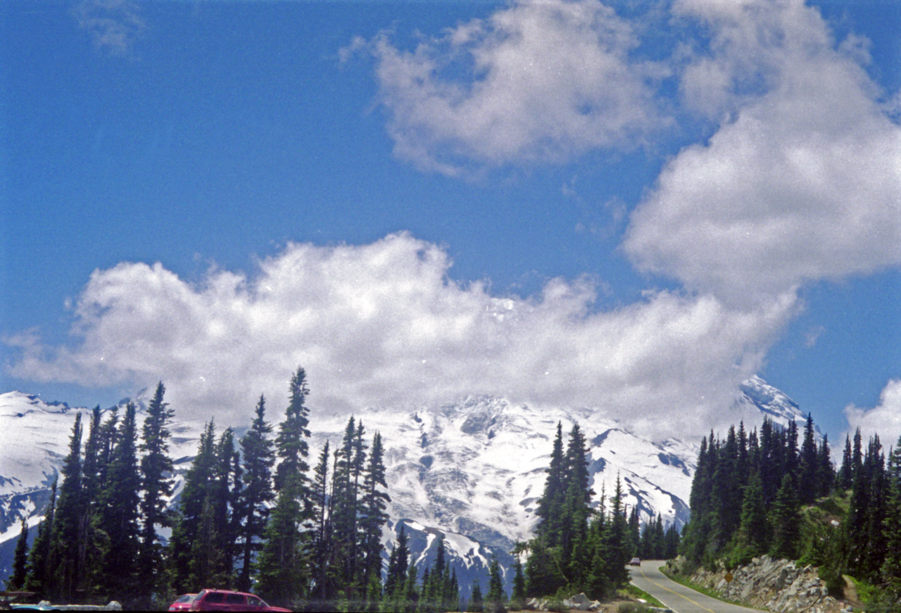
[[[595,312],[587,279],[532,298],[448,278],[447,253],[406,233],[369,245],[290,244],[252,276],[210,270],[187,283],[159,263],[96,270],[72,341],[7,339],[13,374],[105,386],[163,380],[186,416],[246,418],[265,393],[283,407],[298,365],[311,405],[410,408],[461,395],[595,408],[647,435],[730,423],[737,384],[756,372],[794,308],[651,293]],[[218,419],[218,418],[217,418]]]

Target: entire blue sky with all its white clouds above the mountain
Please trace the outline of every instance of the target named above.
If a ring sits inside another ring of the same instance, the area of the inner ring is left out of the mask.
[[[901,435],[901,4],[0,5],[0,390]]]

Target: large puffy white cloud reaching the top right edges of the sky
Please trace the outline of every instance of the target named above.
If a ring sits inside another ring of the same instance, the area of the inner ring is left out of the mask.
[[[836,44],[801,0],[679,0],[710,29],[683,96],[716,116],[633,212],[642,270],[730,301],[901,262],[901,126],[857,40]]]

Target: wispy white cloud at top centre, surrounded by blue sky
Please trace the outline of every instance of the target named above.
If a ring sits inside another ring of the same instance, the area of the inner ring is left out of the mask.
[[[376,59],[396,155],[456,175],[641,143],[663,124],[649,82],[664,73],[629,58],[638,43],[597,0],[524,0],[414,50],[354,47]]]

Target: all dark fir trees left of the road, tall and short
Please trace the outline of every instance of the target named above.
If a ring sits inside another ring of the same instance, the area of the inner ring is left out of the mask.
[[[660,516],[639,526],[627,514],[617,478],[609,502],[592,504],[584,435],[578,425],[564,451],[558,425],[538,503],[535,537],[517,544],[513,590],[496,558],[483,583],[460,584],[439,539],[432,567],[417,568],[405,524],[383,564],[382,528],[390,501],[379,433],[371,440],[350,417],[341,444],[323,445],[310,462],[309,388],[303,368],[291,378],[285,417],[276,429],[260,396],[250,428],[236,440],[205,425],[185,473],[178,504],[168,454],[174,411],[160,382],[142,425],[129,403],[105,419],[91,413],[86,441],[75,419],[61,480],[51,488],[31,547],[23,518],[9,590],[56,602],[120,601],[126,608],[165,608],[200,589],[250,591],[295,610],[503,611],[528,597],[614,595],[628,581],[633,555],[676,554],[675,526]],[[168,539],[160,538],[167,529]],[[522,559],[526,560],[523,566]]]

